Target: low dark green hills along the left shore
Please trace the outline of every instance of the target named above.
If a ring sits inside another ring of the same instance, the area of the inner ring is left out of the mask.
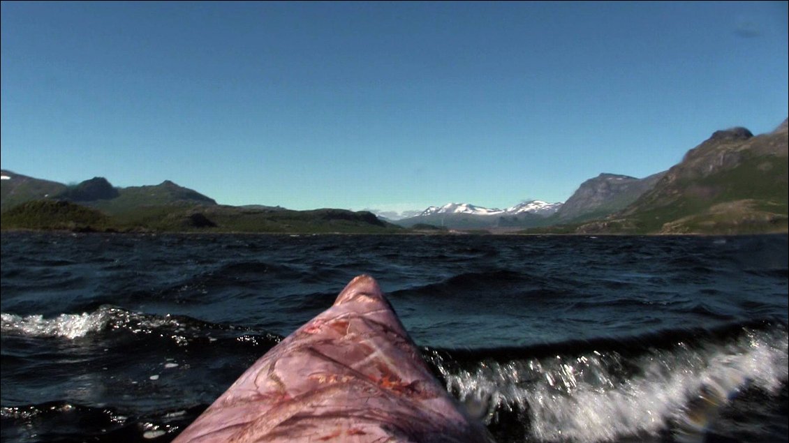
[[[74,186],[2,171],[2,229],[109,232],[390,233],[368,211],[219,205],[172,181],[114,188],[94,177]]]

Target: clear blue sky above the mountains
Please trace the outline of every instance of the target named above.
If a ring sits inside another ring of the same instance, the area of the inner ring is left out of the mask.
[[[789,114],[787,2],[2,2],[2,168],[230,205],[564,201]]]

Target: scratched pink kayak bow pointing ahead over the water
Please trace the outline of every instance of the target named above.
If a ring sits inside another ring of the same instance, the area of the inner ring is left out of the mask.
[[[175,441],[492,437],[439,384],[379,285],[362,275],[258,359]]]

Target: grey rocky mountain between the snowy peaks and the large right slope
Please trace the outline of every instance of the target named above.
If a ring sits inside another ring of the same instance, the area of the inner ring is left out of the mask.
[[[653,188],[665,172],[645,178],[601,173],[581,183],[555,213],[555,222],[571,223],[602,218],[625,209]]]

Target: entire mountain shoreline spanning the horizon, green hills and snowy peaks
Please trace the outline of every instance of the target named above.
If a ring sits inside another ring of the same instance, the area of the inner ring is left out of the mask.
[[[74,186],[0,171],[2,229],[219,232],[402,232],[484,229],[524,233],[772,233],[787,222],[787,121],[760,136],[716,131],[667,171],[602,173],[565,203],[507,209],[447,203],[394,221],[369,211],[230,207],[172,181],[116,188],[103,177]]]

